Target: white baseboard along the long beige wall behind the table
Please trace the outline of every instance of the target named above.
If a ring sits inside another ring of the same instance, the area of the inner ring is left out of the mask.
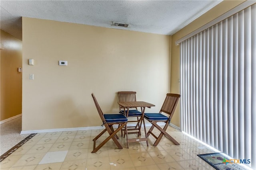
[[[135,126],[136,124],[129,124],[130,126]],[[164,123],[158,123],[158,125],[164,125]],[[118,125],[114,126],[117,127]],[[142,125],[143,126],[143,125]],[[150,123],[145,124],[146,127],[151,126]],[[92,127],[74,127],[74,128],[61,128],[61,129],[43,129],[43,130],[32,130],[32,131],[21,131],[20,134],[31,134],[31,133],[49,133],[49,132],[64,132],[64,131],[86,131],[93,129],[104,129],[102,126],[92,126]]]

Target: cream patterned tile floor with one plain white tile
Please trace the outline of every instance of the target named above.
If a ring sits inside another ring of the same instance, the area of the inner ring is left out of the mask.
[[[197,154],[216,150],[211,150],[172,127],[168,127],[167,131],[180,145],[174,145],[163,137],[154,147],[155,139],[151,135],[148,147],[146,142],[138,142],[131,143],[127,149],[126,138],[118,133],[123,149],[118,149],[110,139],[98,152],[91,153],[92,139],[100,131],[38,133],[4,159],[0,163],[1,170],[214,170]],[[102,135],[96,144],[106,136],[106,133]]]

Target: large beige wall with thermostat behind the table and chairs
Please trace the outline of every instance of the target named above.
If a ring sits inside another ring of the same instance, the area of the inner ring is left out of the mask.
[[[105,113],[118,112],[121,90],[155,104],[148,112],[170,92],[168,35],[32,18],[22,34],[22,131],[100,126],[92,92]]]

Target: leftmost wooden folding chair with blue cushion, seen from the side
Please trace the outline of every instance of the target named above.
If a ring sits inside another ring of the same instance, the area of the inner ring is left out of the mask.
[[[98,104],[98,102],[97,102],[93,93],[92,93],[92,98],[93,98],[95,106],[98,110],[98,113],[100,115],[100,119],[102,120],[102,123],[103,123],[102,126],[103,125],[105,126],[105,129],[93,139],[92,153],[97,152],[110,139],[112,139],[114,141],[114,143],[116,144],[118,149],[123,149],[122,145],[117,140],[116,133],[118,133],[118,131],[120,131],[123,127],[125,128],[125,131],[126,131],[126,124],[127,124],[127,121],[128,121],[127,117],[125,117],[122,114],[103,114],[103,112],[100,109],[100,106],[99,106],[99,104]],[[115,131],[114,131],[114,128],[113,128],[114,124],[118,124],[118,128]],[[96,140],[99,137],[101,137],[106,131],[108,131],[109,136],[102,143],[100,143],[100,145],[98,145],[98,147],[96,147]],[[128,145],[127,145],[127,147],[128,147]]]

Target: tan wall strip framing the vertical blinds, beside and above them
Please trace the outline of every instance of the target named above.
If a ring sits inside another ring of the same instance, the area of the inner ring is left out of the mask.
[[[216,5],[210,11],[206,12],[204,15],[200,16],[198,19],[194,20],[192,23],[172,35],[171,43],[171,92],[180,93],[180,83],[178,82],[180,78],[180,46],[175,45],[175,41],[184,37],[185,35],[191,33],[192,31],[198,29],[199,27],[205,25],[206,23],[218,18],[225,12],[228,12],[232,8],[238,6],[244,2],[244,0],[224,0],[220,4]],[[172,123],[180,127],[180,105],[178,104],[174,116],[172,117]]]

